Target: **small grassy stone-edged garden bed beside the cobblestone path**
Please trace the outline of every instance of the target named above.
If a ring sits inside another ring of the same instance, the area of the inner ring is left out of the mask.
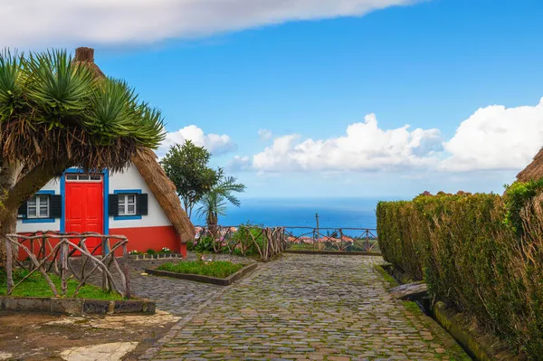
[[[154,276],[171,277],[180,280],[195,280],[197,282],[212,283],[219,286],[228,286],[237,280],[243,279],[256,269],[257,263],[242,264],[230,261],[180,261],[165,263],[157,269],[145,270]]]

